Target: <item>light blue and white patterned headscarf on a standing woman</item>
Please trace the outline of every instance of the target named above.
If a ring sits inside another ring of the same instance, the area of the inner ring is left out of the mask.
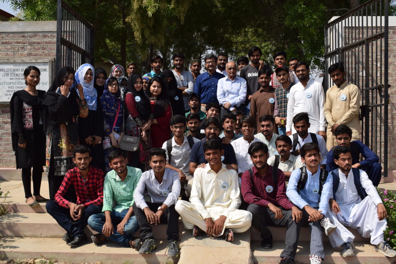
[[[88,70],[91,70],[93,75],[95,74],[95,70],[93,69],[91,64],[84,63],[83,65],[78,67],[76,71],[76,82],[78,84],[81,84],[83,87],[83,93],[87,101],[88,109],[96,111],[98,94],[95,87],[93,87],[93,83],[95,82],[95,79],[92,78],[91,82],[89,83],[86,83],[84,80],[84,76]],[[76,90],[78,93],[78,89]],[[80,96],[79,93],[78,95]]]

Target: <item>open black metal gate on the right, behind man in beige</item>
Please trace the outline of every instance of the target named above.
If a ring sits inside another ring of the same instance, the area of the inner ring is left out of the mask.
[[[369,0],[325,26],[326,71],[344,62],[346,80],[360,88],[362,142],[388,173],[388,0]],[[325,88],[331,78],[325,75]]]

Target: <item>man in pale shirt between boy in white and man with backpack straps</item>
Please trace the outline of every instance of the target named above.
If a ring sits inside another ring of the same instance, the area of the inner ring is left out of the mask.
[[[255,138],[264,142],[268,146],[268,154],[270,157],[275,155],[276,144],[275,140],[278,138],[278,134],[274,134],[275,119],[272,115],[262,115],[259,118],[259,126]]]

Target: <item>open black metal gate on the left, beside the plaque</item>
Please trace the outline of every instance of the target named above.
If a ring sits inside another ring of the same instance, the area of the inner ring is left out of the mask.
[[[71,66],[93,65],[93,26],[62,0],[57,0],[56,72]]]

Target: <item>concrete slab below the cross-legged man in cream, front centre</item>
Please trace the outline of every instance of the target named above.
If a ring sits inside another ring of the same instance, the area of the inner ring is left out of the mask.
[[[184,230],[180,242],[179,263],[188,264],[252,264],[250,232],[234,233],[234,241],[220,237],[192,236],[191,230]]]

